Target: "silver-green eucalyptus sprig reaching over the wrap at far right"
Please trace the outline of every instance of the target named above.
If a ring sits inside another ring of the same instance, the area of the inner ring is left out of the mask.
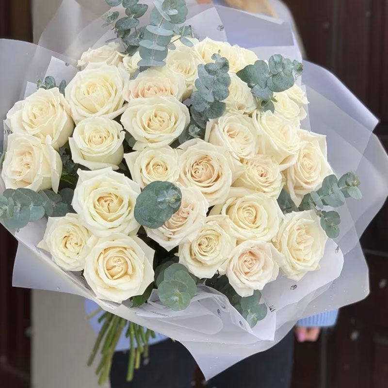
[[[349,197],[361,199],[362,194],[358,188],[359,185],[360,181],[354,172],[346,173],[339,179],[335,175],[329,175],[323,179],[322,187],[319,190],[303,197],[299,208],[296,207],[290,195],[284,189],[277,198],[277,202],[284,213],[298,210],[315,210],[317,215],[321,217],[323,230],[328,237],[334,239],[339,236],[339,224],[341,222],[339,214],[337,211],[319,209],[323,209],[324,206],[338,208],[345,203],[345,198]]]

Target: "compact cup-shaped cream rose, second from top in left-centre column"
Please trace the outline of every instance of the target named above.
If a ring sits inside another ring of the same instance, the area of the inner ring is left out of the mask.
[[[107,117],[89,117],[80,121],[69,138],[71,156],[90,170],[118,169],[123,160],[123,127]]]

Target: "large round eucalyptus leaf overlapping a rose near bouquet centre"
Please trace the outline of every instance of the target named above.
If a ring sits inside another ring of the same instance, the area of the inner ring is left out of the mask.
[[[171,182],[151,182],[136,199],[134,216],[143,226],[158,228],[179,209],[182,193]]]

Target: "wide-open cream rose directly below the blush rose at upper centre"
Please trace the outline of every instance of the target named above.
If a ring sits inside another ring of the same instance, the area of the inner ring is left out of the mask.
[[[136,140],[135,150],[170,145],[189,122],[187,106],[171,96],[135,98],[121,116],[124,128]]]

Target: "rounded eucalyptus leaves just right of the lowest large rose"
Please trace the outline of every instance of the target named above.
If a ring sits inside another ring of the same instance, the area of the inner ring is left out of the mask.
[[[157,285],[161,302],[174,311],[188,307],[197,289],[195,280],[187,268],[174,262],[162,264]]]

